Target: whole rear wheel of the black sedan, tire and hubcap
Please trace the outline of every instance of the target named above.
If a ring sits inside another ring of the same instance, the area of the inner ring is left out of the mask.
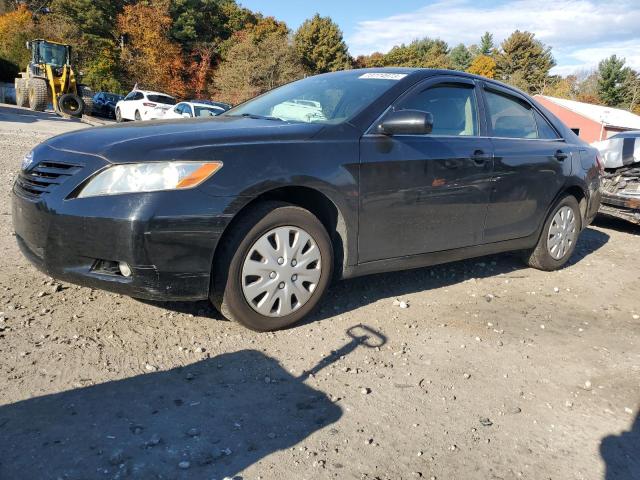
[[[571,258],[581,229],[578,201],[574,196],[567,195],[551,210],[538,244],[527,253],[525,262],[539,270],[561,268]]]

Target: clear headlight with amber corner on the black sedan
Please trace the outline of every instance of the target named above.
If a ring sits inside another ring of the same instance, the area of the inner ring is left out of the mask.
[[[78,198],[195,187],[222,168],[222,162],[157,162],[114,165],[85,185]]]

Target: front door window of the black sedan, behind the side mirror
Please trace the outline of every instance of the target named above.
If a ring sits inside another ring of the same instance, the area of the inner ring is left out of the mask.
[[[433,115],[431,135],[478,135],[478,108],[473,87],[442,85],[427,88],[402,101],[401,110]]]

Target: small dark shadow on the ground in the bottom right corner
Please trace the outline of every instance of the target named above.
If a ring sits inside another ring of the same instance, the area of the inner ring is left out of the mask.
[[[640,479],[640,413],[628,432],[610,435],[600,444],[605,480]]]

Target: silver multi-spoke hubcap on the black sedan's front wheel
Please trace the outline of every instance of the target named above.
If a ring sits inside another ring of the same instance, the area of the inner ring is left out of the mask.
[[[322,257],[299,227],[277,227],[249,249],[242,266],[242,293],[256,312],[284,317],[309,301],[320,281]]]

